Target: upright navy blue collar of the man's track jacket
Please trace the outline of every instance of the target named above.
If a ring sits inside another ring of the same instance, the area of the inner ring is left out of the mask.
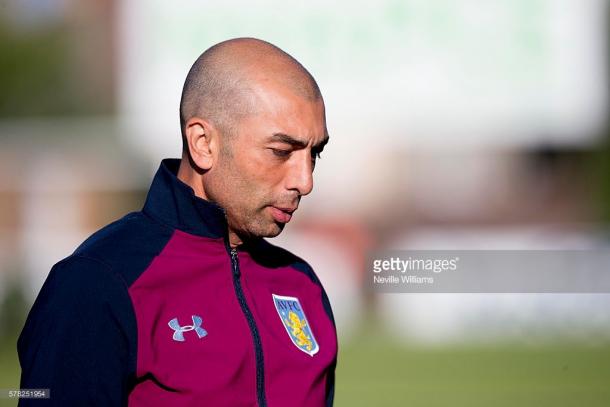
[[[180,160],[177,158],[161,161],[142,211],[186,233],[211,238],[225,237],[227,218],[224,209],[196,196],[193,188],[178,179],[179,167]]]

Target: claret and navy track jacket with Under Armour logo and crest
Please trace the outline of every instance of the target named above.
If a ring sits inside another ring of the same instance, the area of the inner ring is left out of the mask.
[[[324,406],[337,335],[312,268],[161,162],[144,207],[51,269],[19,337],[20,406]]]

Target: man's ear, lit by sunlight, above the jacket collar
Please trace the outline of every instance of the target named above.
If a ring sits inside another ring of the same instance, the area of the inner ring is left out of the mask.
[[[215,162],[218,151],[216,133],[216,129],[208,121],[199,117],[193,117],[185,124],[191,158],[202,170],[209,170]]]

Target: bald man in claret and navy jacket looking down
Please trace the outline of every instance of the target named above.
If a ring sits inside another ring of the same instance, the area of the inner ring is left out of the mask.
[[[55,264],[18,341],[20,405],[331,405],[337,336],[278,235],[328,141],[313,77],[264,41],[205,51],[180,103],[182,159],[142,211]]]

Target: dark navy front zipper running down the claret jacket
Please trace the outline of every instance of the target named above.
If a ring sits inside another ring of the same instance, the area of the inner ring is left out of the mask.
[[[229,250],[229,245],[227,245],[227,250]],[[258,328],[256,327],[256,322],[254,321],[254,317],[252,316],[252,312],[248,307],[248,303],[246,302],[246,297],[244,296],[244,291],[241,286],[241,272],[239,270],[239,257],[237,256],[237,249],[232,248],[229,251],[229,255],[231,256],[231,268],[233,271],[233,287],[235,288],[235,294],[237,295],[237,300],[239,301],[239,305],[241,306],[241,310],[248,321],[248,326],[250,327],[250,333],[252,334],[252,339],[254,340],[254,354],[256,356],[256,398],[258,401],[258,405],[260,407],[267,406],[267,400],[265,397],[265,371],[263,366],[263,346],[261,344],[261,338],[258,333]]]

